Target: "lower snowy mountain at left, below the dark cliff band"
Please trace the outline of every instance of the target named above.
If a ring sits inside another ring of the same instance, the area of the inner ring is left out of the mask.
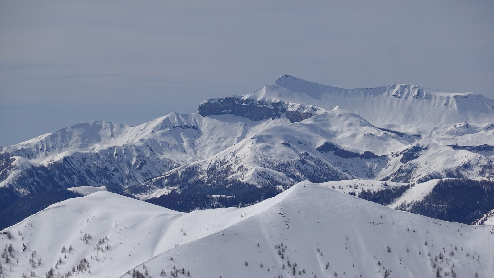
[[[288,123],[169,114],[138,126],[84,122],[1,150],[0,186],[20,194],[53,185],[121,191],[204,159],[256,130]],[[29,186],[26,186],[29,185]]]

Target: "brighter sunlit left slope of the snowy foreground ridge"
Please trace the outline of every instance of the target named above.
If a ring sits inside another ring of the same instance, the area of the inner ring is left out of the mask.
[[[55,266],[59,257],[62,263],[56,270],[64,274],[86,257],[91,258],[91,275],[116,277],[125,268],[146,262],[176,245],[217,233],[263,211],[275,201],[276,198],[264,206],[240,210],[223,208],[181,213],[105,191],[68,199],[5,229],[13,233],[13,239],[1,235],[0,241],[13,244],[15,260],[5,264],[12,267],[13,276],[4,275],[19,277],[29,269],[27,274],[34,270],[41,277]],[[240,214],[246,216],[240,217]],[[86,234],[91,236],[87,242]],[[107,239],[98,244],[104,238]],[[26,245],[24,252],[23,244]],[[69,252],[71,245],[73,250]],[[106,245],[110,247],[106,249]],[[63,246],[65,253],[61,252]],[[36,251],[34,268],[29,267],[33,251]],[[39,258],[41,265],[38,265]]]

